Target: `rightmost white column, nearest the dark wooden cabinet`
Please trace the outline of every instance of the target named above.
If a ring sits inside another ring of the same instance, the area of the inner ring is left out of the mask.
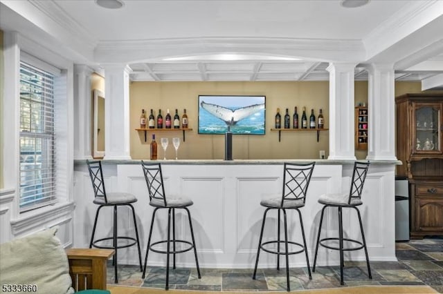
[[[368,157],[395,156],[395,75],[392,64],[368,66]]]

